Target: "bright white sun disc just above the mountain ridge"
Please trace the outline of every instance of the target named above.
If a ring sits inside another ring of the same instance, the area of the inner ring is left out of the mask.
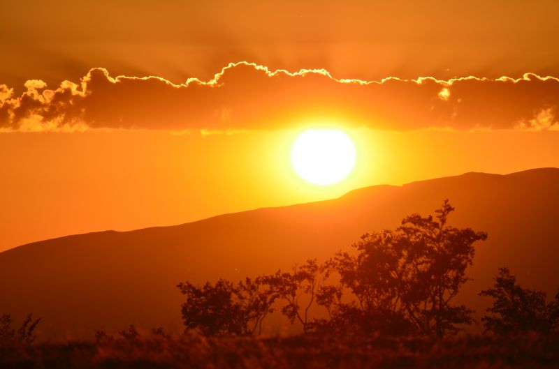
[[[344,179],[355,165],[355,146],[341,130],[310,129],[298,135],[291,163],[301,178],[325,186]]]

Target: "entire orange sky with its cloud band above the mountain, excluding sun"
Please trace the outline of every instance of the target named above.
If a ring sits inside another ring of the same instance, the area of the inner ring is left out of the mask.
[[[365,4],[366,3],[366,4]],[[10,1],[0,251],[464,172],[559,167],[556,1]],[[307,128],[346,179],[290,162]]]

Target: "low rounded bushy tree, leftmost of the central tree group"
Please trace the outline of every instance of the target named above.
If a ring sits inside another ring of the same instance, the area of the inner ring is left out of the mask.
[[[186,330],[203,336],[251,336],[261,331],[262,320],[273,312],[275,294],[262,277],[246,278],[237,285],[220,279],[212,285],[177,285],[187,297],[182,304]]]

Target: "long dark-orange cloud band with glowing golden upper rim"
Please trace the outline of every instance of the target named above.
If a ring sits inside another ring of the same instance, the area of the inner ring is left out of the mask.
[[[337,79],[326,70],[268,70],[230,63],[212,80],[111,77],[94,68],[80,83],[0,85],[0,130],[161,129],[235,132],[333,118],[382,130],[555,130],[559,80],[525,74],[497,80],[421,77]],[[551,118],[550,118],[551,116]],[[550,120],[551,119],[551,120]]]

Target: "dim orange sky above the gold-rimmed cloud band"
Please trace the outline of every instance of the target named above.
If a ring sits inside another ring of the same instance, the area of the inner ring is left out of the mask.
[[[335,77],[559,75],[559,4],[473,1],[6,1],[0,80],[210,79],[231,61]]]

